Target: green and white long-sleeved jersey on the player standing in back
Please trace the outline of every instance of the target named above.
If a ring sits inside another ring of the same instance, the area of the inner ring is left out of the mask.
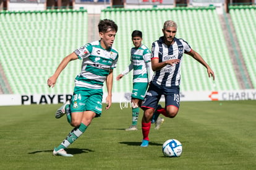
[[[132,69],[134,69],[134,83],[150,81],[153,71],[151,70],[151,52],[147,46],[141,45],[139,48],[130,49],[130,65],[122,75],[128,74]]]

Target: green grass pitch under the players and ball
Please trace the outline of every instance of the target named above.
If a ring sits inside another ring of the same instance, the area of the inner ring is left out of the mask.
[[[119,104],[95,118],[67,149],[72,158],[53,156],[72,127],[55,119],[61,104],[0,107],[0,169],[256,169],[256,101],[181,102],[174,119],[164,118],[150,145],[139,130],[126,132],[131,109]],[[179,158],[166,158],[163,143],[176,138]]]

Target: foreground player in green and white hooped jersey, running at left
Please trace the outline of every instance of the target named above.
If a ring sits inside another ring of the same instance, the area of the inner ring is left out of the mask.
[[[99,41],[87,43],[74,53],[64,57],[56,72],[48,79],[48,86],[54,87],[62,70],[75,59],[82,59],[82,69],[75,77],[74,95],[56,112],[55,117],[64,114],[70,125],[75,127],[63,142],[53,150],[53,155],[73,156],[64,149],[69,147],[80,135],[85,132],[94,117],[100,117],[102,111],[103,83],[106,80],[108,95],[106,96],[106,109],[112,103],[113,69],[116,67],[118,53],[113,43],[117,32],[117,25],[113,20],[100,20],[98,30]],[[70,109],[70,110],[69,110]]]

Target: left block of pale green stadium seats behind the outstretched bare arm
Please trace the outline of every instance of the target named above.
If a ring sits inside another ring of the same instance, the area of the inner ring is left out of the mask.
[[[0,62],[13,93],[72,93],[79,61],[69,64],[55,88],[48,88],[46,82],[63,57],[87,42],[87,16],[84,10],[0,14],[5,40]]]

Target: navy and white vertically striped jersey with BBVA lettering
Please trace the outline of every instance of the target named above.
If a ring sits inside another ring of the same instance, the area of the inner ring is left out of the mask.
[[[152,43],[151,60],[158,58],[159,62],[169,59],[180,59],[181,61],[174,66],[166,65],[161,70],[157,70],[153,75],[152,82],[164,87],[178,86],[181,83],[181,64],[184,52],[190,52],[192,49],[189,44],[178,38],[174,38],[173,45],[166,45],[163,36]]]

